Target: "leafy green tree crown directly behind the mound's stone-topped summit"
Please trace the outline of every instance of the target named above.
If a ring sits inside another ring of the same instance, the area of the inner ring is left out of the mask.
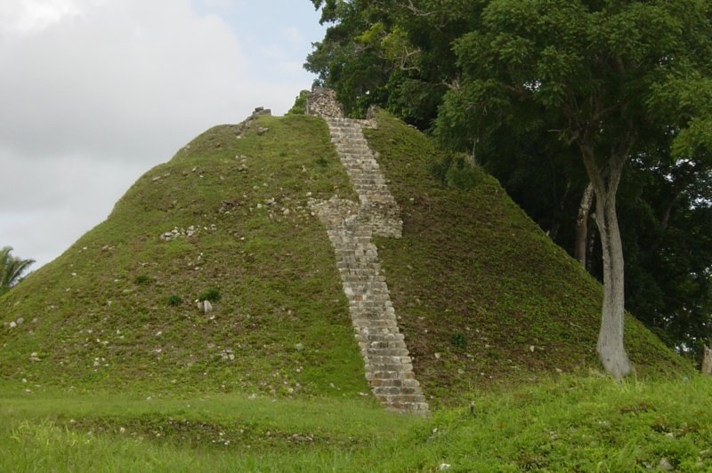
[[[421,129],[457,84],[451,44],[472,28],[479,0],[312,0],[330,26],[304,68],[336,91],[344,110],[376,104]]]

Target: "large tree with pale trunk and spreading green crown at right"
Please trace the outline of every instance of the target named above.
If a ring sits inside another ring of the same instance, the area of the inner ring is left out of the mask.
[[[493,0],[479,27],[455,42],[462,80],[441,106],[441,139],[496,152],[481,143],[526,134],[536,119],[586,169],[603,252],[596,349],[617,379],[631,370],[623,344],[621,176],[634,158],[659,160],[648,141],[666,142],[668,156],[708,159],[711,19],[705,0]]]

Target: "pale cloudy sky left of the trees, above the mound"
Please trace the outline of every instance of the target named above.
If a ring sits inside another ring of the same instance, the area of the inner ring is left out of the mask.
[[[0,0],[0,247],[59,256],[214,124],[284,114],[309,0]]]

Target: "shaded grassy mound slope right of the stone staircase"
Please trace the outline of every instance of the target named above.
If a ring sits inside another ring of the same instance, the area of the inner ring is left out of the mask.
[[[491,382],[598,369],[601,286],[497,180],[457,160],[433,170],[446,160],[430,140],[387,113],[376,119],[368,142],[403,218],[403,238],[376,245],[425,392],[444,400]],[[690,373],[633,317],[626,347],[639,374]]]

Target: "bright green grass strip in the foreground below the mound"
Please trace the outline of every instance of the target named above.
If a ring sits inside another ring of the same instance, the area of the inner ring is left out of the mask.
[[[712,379],[563,375],[421,419],[368,399],[31,394],[0,386],[7,471],[682,471],[712,468]],[[471,407],[472,406],[472,407]]]

